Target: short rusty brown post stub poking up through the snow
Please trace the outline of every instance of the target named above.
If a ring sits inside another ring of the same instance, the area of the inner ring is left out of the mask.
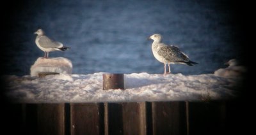
[[[103,74],[103,90],[124,90],[124,74]]]

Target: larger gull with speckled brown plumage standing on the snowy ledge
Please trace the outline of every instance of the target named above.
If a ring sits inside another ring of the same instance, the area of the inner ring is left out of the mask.
[[[181,52],[177,46],[161,43],[161,34],[153,34],[148,39],[154,40],[152,43],[152,52],[159,62],[164,63],[164,74],[166,74],[166,64],[168,64],[169,68],[168,73],[171,73],[170,64],[187,64],[188,66],[198,64],[189,60],[188,55]]]

